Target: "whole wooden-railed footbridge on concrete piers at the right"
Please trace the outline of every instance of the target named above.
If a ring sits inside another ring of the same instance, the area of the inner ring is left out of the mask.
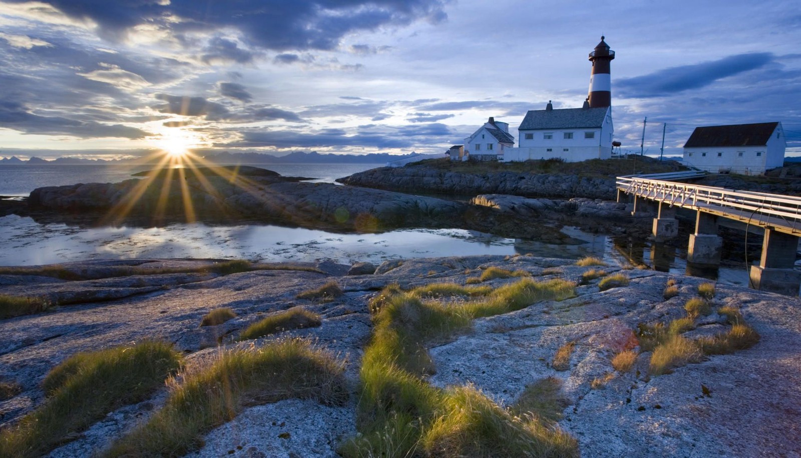
[[[801,197],[677,181],[701,176],[703,172],[618,176],[618,202],[633,201],[632,214],[656,213],[652,229],[656,241],[678,235],[676,209],[694,210],[695,230],[690,234],[687,262],[695,265],[720,264],[723,239],[718,236],[718,218],[763,228],[759,265],[751,265],[749,271],[751,285],[758,290],[798,295],[801,273],[794,267],[801,237]]]

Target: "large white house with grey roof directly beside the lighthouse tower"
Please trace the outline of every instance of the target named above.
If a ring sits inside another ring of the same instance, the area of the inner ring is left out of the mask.
[[[525,114],[518,128],[519,148],[505,152],[504,161],[561,158],[567,162],[612,156],[612,107],[545,110]]]

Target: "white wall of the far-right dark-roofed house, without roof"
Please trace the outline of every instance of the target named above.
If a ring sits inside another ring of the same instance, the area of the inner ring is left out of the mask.
[[[767,144],[759,146],[684,148],[683,162],[706,172],[731,172],[759,175],[784,164],[782,124],[776,126]]]

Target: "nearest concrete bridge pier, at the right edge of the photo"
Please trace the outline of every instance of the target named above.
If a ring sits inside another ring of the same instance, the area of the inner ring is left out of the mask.
[[[794,270],[798,245],[798,237],[766,228],[759,265],[751,265],[751,287],[760,291],[798,296],[801,272]]]

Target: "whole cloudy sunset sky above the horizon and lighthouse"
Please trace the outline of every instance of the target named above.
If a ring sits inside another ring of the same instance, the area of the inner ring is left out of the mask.
[[[603,35],[615,140],[780,121],[801,156],[798,0],[0,0],[0,157],[442,153],[581,107]]]

